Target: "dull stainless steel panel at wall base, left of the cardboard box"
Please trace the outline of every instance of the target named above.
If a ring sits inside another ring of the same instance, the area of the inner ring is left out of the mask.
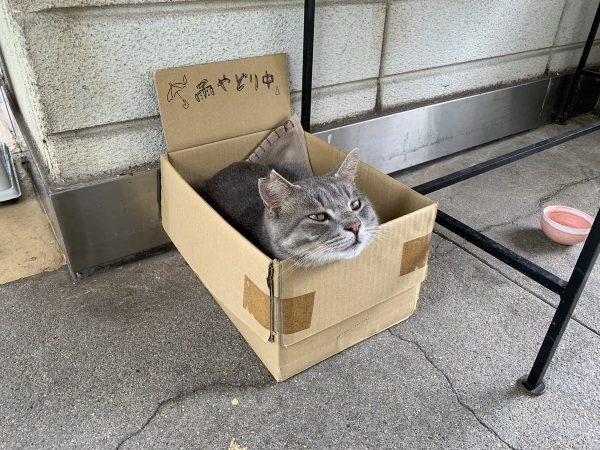
[[[50,195],[69,267],[77,275],[169,242],[160,221],[158,170]]]

